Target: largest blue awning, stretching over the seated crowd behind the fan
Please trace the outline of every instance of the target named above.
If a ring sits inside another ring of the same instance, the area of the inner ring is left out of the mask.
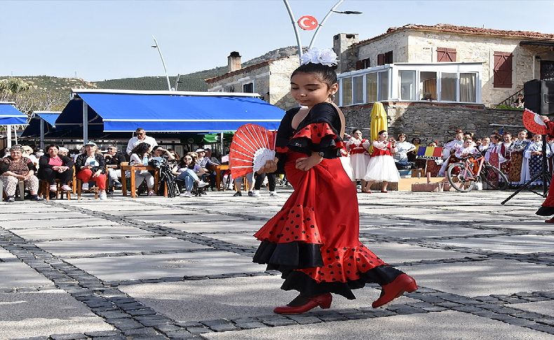
[[[133,132],[227,132],[246,123],[277,130],[285,111],[244,94],[168,91],[74,90],[55,121],[58,130],[83,124],[83,102],[88,104],[90,130]],[[82,100],[82,101],[81,101]]]

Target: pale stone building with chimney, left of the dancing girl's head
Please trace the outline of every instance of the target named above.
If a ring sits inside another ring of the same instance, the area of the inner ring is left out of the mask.
[[[241,55],[231,52],[227,57],[229,72],[206,79],[213,92],[259,93],[270,104],[281,109],[295,107],[296,102],[290,96],[290,74],[299,64],[298,56],[279,57],[248,67],[242,67]]]

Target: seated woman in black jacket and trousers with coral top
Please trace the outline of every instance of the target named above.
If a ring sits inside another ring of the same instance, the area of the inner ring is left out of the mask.
[[[40,168],[37,174],[39,179],[43,179],[50,184],[50,192],[58,191],[58,186],[55,184],[55,179],[60,179],[63,191],[71,191],[69,182],[73,179],[73,161],[67,156],[61,156],[59,147],[56,144],[48,145],[48,154],[39,159]],[[50,198],[55,197],[55,194],[50,194]]]

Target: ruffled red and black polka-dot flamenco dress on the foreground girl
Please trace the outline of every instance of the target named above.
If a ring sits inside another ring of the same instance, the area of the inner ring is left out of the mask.
[[[287,111],[277,132],[278,164],[295,188],[281,211],[255,237],[253,261],[283,273],[283,290],[304,297],[326,292],[356,299],[351,290],[366,283],[386,285],[402,274],[379,259],[358,238],[356,187],[338,158],[343,141],[337,110],[331,104],[314,106],[291,127],[298,109]],[[295,168],[297,158],[323,152],[323,161],[308,171]]]

